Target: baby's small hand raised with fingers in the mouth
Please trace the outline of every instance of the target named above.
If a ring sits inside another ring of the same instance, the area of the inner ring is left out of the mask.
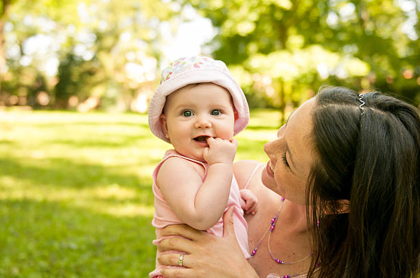
[[[204,149],[202,155],[209,165],[215,163],[233,164],[237,148],[236,139],[232,139],[232,142],[230,142],[229,140],[209,137],[207,138],[207,144],[209,144],[209,147]]]

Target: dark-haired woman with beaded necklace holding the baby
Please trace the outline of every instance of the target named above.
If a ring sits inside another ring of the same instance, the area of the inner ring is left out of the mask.
[[[185,266],[163,276],[417,277],[419,146],[412,105],[378,92],[323,88],[264,146],[265,168],[235,164],[238,184],[259,200],[258,212],[246,216],[253,257],[247,262],[240,253],[228,211],[224,238],[165,228],[190,240],[161,242],[161,250],[185,253],[159,257]]]

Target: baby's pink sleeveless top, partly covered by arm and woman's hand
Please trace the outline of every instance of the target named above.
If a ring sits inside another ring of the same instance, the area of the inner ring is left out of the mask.
[[[205,175],[202,177],[202,180],[205,181],[205,178],[207,176],[207,168],[209,168],[209,164],[200,162],[198,160],[193,160],[189,157],[185,157],[183,155],[180,155],[180,153],[177,153],[175,150],[169,150],[165,153],[165,156],[163,157],[163,160],[159,162],[159,164],[154,168],[153,171],[153,193],[154,193],[154,216],[152,220],[153,227],[156,227],[156,240],[153,240],[153,244],[157,245],[161,240],[163,240],[163,237],[161,236],[161,229],[163,227],[166,227],[167,225],[172,224],[182,224],[181,220],[174,214],[174,212],[171,210],[170,206],[166,203],[165,199],[163,199],[163,194],[159,187],[156,185],[156,177],[159,173],[159,169],[161,168],[161,165],[165,160],[167,160],[170,157],[181,157],[185,160],[189,160],[191,162],[197,163],[201,165],[205,169]],[[244,256],[248,259],[250,257],[249,255],[249,249],[248,249],[248,225],[246,224],[246,220],[244,218],[244,211],[241,208],[241,197],[240,197],[240,190],[237,186],[237,182],[235,179],[235,176],[232,178],[232,184],[231,184],[231,190],[229,192],[229,200],[226,204],[226,209],[224,210],[226,212],[227,208],[233,205],[233,227],[235,228],[235,235],[237,238],[237,242],[239,243],[242,253],[244,253]],[[207,229],[208,233],[211,233],[215,236],[223,236],[223,222],[222,222],[222,216],[220,216],[220,219],[217,223],[210,229]],[[176,253],[175,251],[170,251],[168,253]],[[149,273],[149,277],[152,278],[161,278],[162,275],[160,273],[160,270],[163,268],[159,262],[157,262],[157,257],[163,253],[157,251],[156,253],[156,268]],[[180,268],[180,266],[167,266],[169,268]]]

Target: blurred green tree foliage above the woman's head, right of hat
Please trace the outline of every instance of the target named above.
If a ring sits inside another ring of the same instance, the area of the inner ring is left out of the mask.
[[[242,66],[253,77],[251,84],[245,82],[246,93],[266,94],[277,107],[293,103],[295,90],[301,94],[297,99],[305,99],[306,92],[317,90],[320,84],[392,91],[419,101],[420,10],[416,1],[183,3],[194,5],[218,27],[218,35],[210,42],[213,55]],[[402,31],[403,26],[414,29]],[[406,76],[404,71],[409,71]],[[261,84],[264,77],[266,82]]]

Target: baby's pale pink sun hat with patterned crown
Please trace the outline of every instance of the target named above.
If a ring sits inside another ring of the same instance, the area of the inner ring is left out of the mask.
[[[188,84],[211,82],[226,88],[231,93],[233,106],[238,118],[235,121],[233,135],[242,131],[249,121],[249,108],[242,88],[233,79],[224,62],[203,56],[180,58],[164,68],[161,83],[149,103],[149,127],[152,133],[166,142],[159,117],[162,114],[167,95]]]

